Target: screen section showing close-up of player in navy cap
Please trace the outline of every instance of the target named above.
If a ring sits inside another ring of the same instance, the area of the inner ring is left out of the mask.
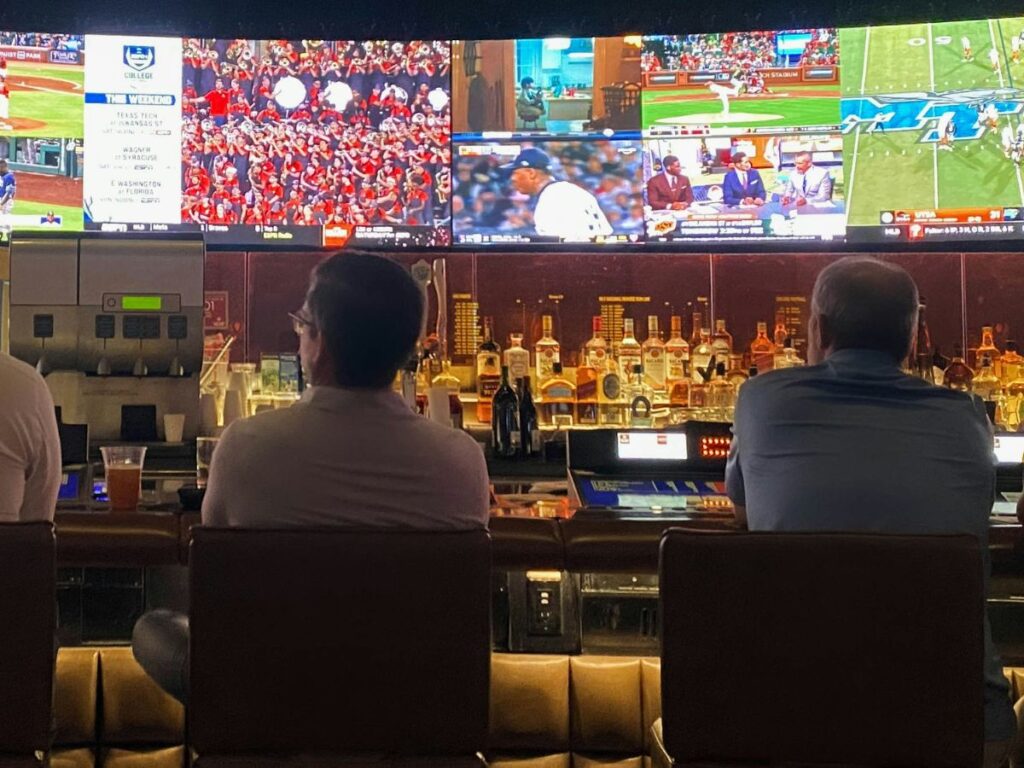
[[[458,143],[455,241],[640,243],[641,161],[638,140]]]

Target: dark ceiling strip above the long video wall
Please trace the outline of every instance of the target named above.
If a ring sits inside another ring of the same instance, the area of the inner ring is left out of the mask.
[[[856,26],[1018,15],[1019,3],[984,0],[13,0],[0,29],[197,37],[503,38],[679,34]]]

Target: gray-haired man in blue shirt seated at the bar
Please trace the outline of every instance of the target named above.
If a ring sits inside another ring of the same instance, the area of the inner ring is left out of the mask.
[[[991,427],[976,397],[903,373],[918,304],[894,264],[821,270],[810,365],[751,379],[736,402],[726,485],[751,530],[971,534],[987,574]],[[986,765],[999,765],[1016,723],[987,618],[985,643]]]

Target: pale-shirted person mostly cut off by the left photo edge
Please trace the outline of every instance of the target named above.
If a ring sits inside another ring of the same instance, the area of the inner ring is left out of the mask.
[[[0,353],[0,522],[52,520],[59,487],[53,397],[35,370]]]

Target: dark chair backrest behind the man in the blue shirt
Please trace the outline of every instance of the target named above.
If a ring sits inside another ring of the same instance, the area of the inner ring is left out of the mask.
[[[677,762],[980,765],[973,537],[673,528],[660,601]]]

